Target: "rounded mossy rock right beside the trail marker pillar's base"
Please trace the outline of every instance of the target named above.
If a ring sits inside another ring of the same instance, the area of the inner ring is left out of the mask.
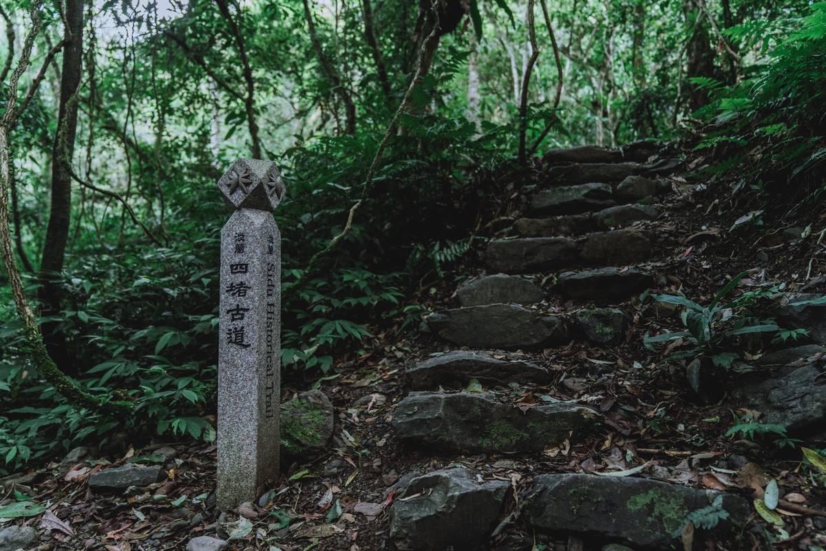
[[[311,390],[281,406],[281,448],[285,454],[309,457],[327,450],[335,411],[324,392]]]

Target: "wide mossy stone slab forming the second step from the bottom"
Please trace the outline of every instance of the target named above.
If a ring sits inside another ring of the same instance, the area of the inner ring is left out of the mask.
[[[491,392],[411,392],[396,406],[392,424],[410,444],[451,452],[528,452],[580,438],[596,426],[596,411],[567,403],[523,413]]]

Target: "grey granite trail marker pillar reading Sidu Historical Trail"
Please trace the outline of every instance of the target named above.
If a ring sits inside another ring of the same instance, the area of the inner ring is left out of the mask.
[[[221,230],[217,506],[254,501],[278,478],[281,398],[281,234],[278,167],[238,159],[218,180],[234,210]]]

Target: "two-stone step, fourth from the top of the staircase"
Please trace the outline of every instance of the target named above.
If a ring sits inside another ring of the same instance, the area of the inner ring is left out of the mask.
[[[638,221],[651,221],[659,215],[660,210],[650,205],[618,205],[585,214],[520,218],[516,221],[516,231],[524,237],[582,235],[592,231],[620,229]]]

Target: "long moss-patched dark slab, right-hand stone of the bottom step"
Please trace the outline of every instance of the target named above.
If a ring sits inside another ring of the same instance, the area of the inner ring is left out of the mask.
[[[583,539],[629,544],[645,549],[682,549],[680,532],[692,511],[710,506],[717,496],[646,478],[594,474],[544,474],[534,478],[525,518],[535,530],[575,534]],[[729,518],[741,523],[748,502],[723,495]],[[721,522],[717,530],[730,528]]]

